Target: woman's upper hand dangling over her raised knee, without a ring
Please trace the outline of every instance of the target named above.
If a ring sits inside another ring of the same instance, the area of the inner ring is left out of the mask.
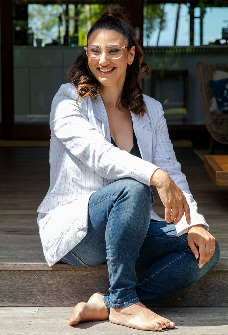
[[[157,188],[158,195],[165,207],[165,221],[167,223],[174,221],[174,224],[177,224],[185,212],[186,220],[190,224],[190,208],[186,198],[166,172],[157,169],[150,178],[150,185]]]

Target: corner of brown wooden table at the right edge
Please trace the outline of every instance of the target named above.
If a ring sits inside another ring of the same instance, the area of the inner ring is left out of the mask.
[[[206,155],[204,167],[215,185],[228,186],[228,155]]]

